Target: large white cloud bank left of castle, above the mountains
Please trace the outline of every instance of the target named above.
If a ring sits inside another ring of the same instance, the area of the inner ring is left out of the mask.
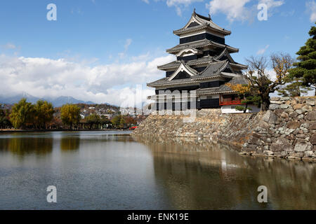
[[[67,59],[0,55],[0,95],[27,92],[35,97],[71,96],[96,103],[121,104],[124,95],[131,97],[136,91],[136,85],[162,78],[164,73],[157,65],[173,59],[168,55],[126,64],[88,66]],[[152,91],[146,88],[145,94]]]

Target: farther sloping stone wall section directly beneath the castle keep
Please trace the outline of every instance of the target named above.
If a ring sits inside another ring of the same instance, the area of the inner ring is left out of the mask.
[[[183,118],[187,116],[150,115],[133,135],[219,139],[242,146],[262,116],[263,113],[222,114],[220,109],[203,109],[196,112],[195,120],[185,123]]]

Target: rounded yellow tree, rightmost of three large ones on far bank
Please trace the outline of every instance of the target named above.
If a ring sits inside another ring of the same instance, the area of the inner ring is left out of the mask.
[[[60,118],[62,123],[69,125],[72,129],[72,125],[78,124],[80,120],[80,108],[74,104],[65,104],[60,109]]]

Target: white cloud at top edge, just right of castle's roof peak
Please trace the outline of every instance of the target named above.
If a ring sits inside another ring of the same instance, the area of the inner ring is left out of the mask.
[[[246,21],[254,19],[256,15],[256,6],[259,3],[265,3],[268,10],[282,6],[283,0],[211,0],[206,3],[206,8],[209,8],[211,14],[223,13],[230,22]]]

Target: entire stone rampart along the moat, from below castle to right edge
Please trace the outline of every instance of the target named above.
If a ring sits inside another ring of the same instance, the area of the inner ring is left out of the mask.
[[[274,97],[265,113],[197,111],[192,123],[180,115],[150,115],[134,136],[194,137],[242,146],[242,154],[316,160],[316,97]]]

